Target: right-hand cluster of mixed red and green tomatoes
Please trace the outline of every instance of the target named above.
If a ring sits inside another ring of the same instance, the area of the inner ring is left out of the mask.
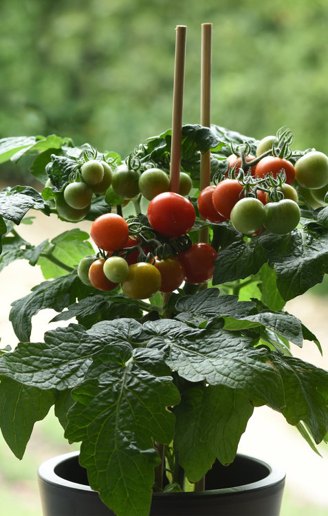
[[[310,151],[294,165],[281,155],[272,155],[274,140],[274,136],[263,138],[256,157],[229,156],[230,176],[206,187],[197,199],[199,213],[205,219],[217,223],[230,219],[232,226],[245,235],[261,228],[284,235],[300,222],[298,194],[292,186],[295,180],[314,192],[314,197],[315,192],[321,196],[327,193],[327,155]]]

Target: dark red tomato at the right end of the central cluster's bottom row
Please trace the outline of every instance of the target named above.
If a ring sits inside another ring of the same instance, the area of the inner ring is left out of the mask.
[[[185,281],[196,284],[211,279],[215,258],[217,251],[205,242],[197,242],[177,255],[184,268]]]

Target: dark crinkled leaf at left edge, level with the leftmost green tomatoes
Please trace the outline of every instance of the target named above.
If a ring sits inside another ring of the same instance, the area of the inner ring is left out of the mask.
[[[31,208],[50,215],[49,206],[32,186],[14,186],[0,192],[0,215],[3,218],[19,224]]]

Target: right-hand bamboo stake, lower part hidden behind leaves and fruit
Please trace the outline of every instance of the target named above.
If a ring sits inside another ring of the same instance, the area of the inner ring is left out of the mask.
[[[212,75],[212,23],[201,24],[201,125],[210,127]],[[201,190],[210,184],[210,150],[201,154]],[[199,241],[208,243],[208,228],[199,230]]]

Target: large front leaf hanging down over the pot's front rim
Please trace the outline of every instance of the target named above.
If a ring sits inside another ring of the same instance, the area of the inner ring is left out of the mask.
[[[159,363],[157,350],[109,345],[72,393],[76,405],[65,436],[82,440],[80,464],[89,484],[118,516],[149,513],[160,462],[153,440],[173,438],[174,416],[166,407],[179,402],[179,393]]]

